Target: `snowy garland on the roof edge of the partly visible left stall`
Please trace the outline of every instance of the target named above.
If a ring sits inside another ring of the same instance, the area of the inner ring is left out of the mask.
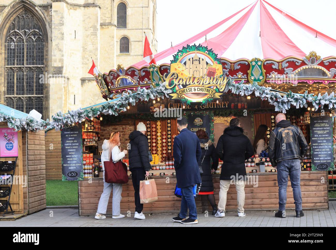
[[[12,116],[7,116],[0,112],[0,122],[7,122],[9,128],[13,128],[16,131],[20,130],[44,130],[48,126],[48,121],[37,121],[36,119],[27,116],[25,118],[16,119]]]

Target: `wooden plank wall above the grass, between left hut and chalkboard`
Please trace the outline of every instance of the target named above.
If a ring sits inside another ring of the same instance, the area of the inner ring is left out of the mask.
[[[55,129],[45,133],[46,179],[62,180],[61,132]]]

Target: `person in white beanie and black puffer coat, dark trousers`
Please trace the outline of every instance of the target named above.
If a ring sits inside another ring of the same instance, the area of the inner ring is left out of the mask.
[[[146,126],[139,122],[136,130],[129,134],[130,149],[128,151],[129,170],[132,173],[132,182],[134,188],[134,202],[136,219],[145,219],[142,213],[143,204],[140,203],[140,181],[149,176],[149,170],[152,169],[149,162],[148,142],[145,136]]]

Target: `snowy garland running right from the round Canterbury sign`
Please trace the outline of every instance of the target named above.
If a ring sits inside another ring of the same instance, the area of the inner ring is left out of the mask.
[[[244,82],[241,81],[236,84],[233,80],[227,83],[226,92],[229,90],[233,94],[239,94],[241,96],[254,93],[255,96],[260,97],[262,100],[267,100],[270,104],[274,105],[275,111],[281,111],[283,113],[286,113],[286,110],[289,110],[291,105],[294,105],[296,108],[307,107],[308,102],[311,102],[316,110],[324,105],[327,105],[329,109],[336,107],[334,92],[330,95],[326,92],[324,95],[320,93],[314,96],[313,94],[308,94],[307,91],[305,91],[303,95],[289,91],[285,96],[281,96],[279,93],[271,92],[270,87],[259,86],[256,82],[253,84],[244,84]]]

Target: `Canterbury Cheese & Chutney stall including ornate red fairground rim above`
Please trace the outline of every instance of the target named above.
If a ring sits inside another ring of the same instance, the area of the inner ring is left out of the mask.
[[[336,82],[335,74],[328,62],[336,58],[321,59],[311,52],[302,60],[286,57],[277,63],[270,58],[230,61],[217,58],[212,49],[202,45],[187,45],[173,58],[170,65],[152,64],[140,69],[118,65],[109,73],[99,73],[95,75],[96,84],[106,102],[52,117],[48,129],[61,130],[62,180],[79,181],[79,215],[96,212],[102,190],[101,144],[111,132],[121,133],[123,150],[127,149],[128,135],[136,125],[146,125],[148,147],[153,155],[150,175],[156,180],[159,197],[145,205],[144,212],[172,213],[179,207],[179,199],[173,193],[173,144],[179,133],[178,117],[186,117],[188,129],[193,132],[204,129],[216,145],[233,117],[240,119],[244,134],[252,143],[259,125],[266,125],[267,142],[279,112],[300,127],[310,144],[301,162],[303,209],[328,208],[327,180],[328,171],[334,171],[332,119],[336,107],[335,95],[328,88],[328,84]],[[301,73],[295,75],[296,71]],[[327,83],[321,72],[326,73]],[[319,94],[322,90],[330,94]],[[128,164],[127,156],[124,162]],[[217,201],[221,168],[219,162],[213,174]],[[265,150],[246,161],[246,211],[277,209],[276,171]],[[229,193],[228,210],[235,210],[236,194],[232,187]],[[131,181],[124,185],[122,196],[123,213],[132,212]],[[290,187],[288,197],[287,208],[294,209]],[[197,198],[197,204],[199,211],[204,212],[208,203],[202,198]]]

